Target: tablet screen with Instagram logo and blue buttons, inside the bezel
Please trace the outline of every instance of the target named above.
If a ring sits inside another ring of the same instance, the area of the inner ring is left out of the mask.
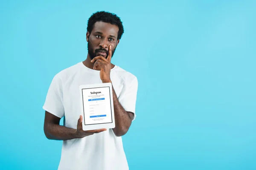
[[[84,125],[112,123],[110,88],[83,88]]]

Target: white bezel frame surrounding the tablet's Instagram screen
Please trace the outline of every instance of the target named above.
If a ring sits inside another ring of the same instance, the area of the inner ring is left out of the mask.
[[[85,125],[84,124],[84,104],[83,104],[83,94],[82,90],[87,88],[105,88],[109,87],[110,90],[110,102],[111,102],[111,116],[112,116],[112,122],[111,123],[101,123],[101,124],[94,124],[94,125]],[[102,129],[102,128],[114,128],[115,127],[115,114],[114,114],[114,103],[113,103],[113,92],[112,92],[112,84],[110,82],[108,83],[101,83],[101,84],[90,84],[90,85],[80,85],[79,86],[79,93],[80,93],[80,105],[81,105],[81,113],[83,117],[82,121],[82,127],[83,130],[96,130],[96,129]]]

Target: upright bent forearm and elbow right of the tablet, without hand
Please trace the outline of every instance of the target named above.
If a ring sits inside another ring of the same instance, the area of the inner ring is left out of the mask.
[[[112,93],[116,124],[116,127],[113,128],[113,131],[116,134],[116,136],[122,136],[125,135],[125,133],[127,133],[129,127],[131,126],[131,118],[129,114],[125,111],[125,109],[122,107],[122,105],[119,103],[113,86]]]

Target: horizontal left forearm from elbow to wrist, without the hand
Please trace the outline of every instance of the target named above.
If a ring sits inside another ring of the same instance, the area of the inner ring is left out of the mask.
[[[44,133],[48,139],[52,140],[69,140],[78,138],[76,129],[56,124],[49,124],[47,127],[44,127]]]

